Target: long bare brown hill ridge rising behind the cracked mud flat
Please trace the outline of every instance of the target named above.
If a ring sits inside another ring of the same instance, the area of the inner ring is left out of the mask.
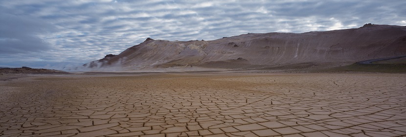
[[[405,55],[405,46],[405,26],[366,25],[356,29],[300,34],[249,33],[214,41],[171,42],[147,39],[116,56],[87,65],[131,68],[264,68],[311,63],[334,67],[362,60]],[[245,61],[237,60],[238,58]],[[213,66],[215,64],[222,65]]]

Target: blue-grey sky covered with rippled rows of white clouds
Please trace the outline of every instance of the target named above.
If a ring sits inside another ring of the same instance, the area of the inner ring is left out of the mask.
[[[62,69],[146,38],[406,25],[406,0],[0,0],[0,67]]]

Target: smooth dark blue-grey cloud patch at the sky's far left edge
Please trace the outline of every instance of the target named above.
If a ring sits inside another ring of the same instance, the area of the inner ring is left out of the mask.
[[[23,15],[0,13],[0,53],[41,52],[52,48],[39,37],[54,31],[52,25]]]

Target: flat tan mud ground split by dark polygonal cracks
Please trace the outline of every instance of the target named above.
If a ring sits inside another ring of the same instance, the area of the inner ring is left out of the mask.
[[[2,137],[401,137],[405,74],[132,74],[0,81]]]

